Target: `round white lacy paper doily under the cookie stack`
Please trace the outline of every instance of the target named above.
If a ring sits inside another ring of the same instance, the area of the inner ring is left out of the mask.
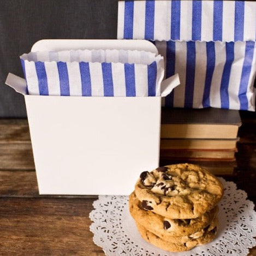
[[[219,230],[217,237],[207,245],[197,246],[188,252],[163,251],[143,240],[136,229],[128,209],[128,197],[100,195],[90,213],[93,221],[90,230],[93,241],[103,248],[106,255],[135,256],[243,256],[256,246],[256,212],[247,194],[236,189],[234,182],[220,178],[224,196],[219,203]]]

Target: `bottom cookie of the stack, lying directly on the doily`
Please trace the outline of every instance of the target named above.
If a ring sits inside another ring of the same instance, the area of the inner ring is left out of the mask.
[[[217,218],[216,218],[217,222]],[[217,234],[217,225],[215,228],[212,228],[210,231],[207,230],[204,232],[203,235],[199,236],[198,238],[189,237],[188,239],[185,237],[178,238],[176,241],[173,240],[163,240],[159,236],[153,234],[152,232],[148,231],[144,226],[139,223],[136,223],[137,228],[139,230],[140,235],[144,240],[152,245],[164,249],[165,251],[169,252],[184,252],[189,251],[190,249],[194,248],[198,245],[204,245],[205,243],[211,242],[215,239]],[[177,238],[177,237],[176,237]]]

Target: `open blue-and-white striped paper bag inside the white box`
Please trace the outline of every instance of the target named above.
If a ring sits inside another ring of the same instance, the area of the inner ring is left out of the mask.
[[[146,51],[72,50],[21,56],[27,93],[54,96],[160,96],[164,60]]]

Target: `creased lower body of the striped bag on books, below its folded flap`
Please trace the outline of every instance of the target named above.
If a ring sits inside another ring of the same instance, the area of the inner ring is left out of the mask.
[[[181,85],[165,106],[254,110],[254,41],[156,41],[165,57],[166,78],[178,73]]]

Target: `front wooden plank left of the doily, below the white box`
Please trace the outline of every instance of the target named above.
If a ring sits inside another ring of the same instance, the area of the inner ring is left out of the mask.
[[[105,255],[89,227],[93,199],[0,199],[1,255]]]

